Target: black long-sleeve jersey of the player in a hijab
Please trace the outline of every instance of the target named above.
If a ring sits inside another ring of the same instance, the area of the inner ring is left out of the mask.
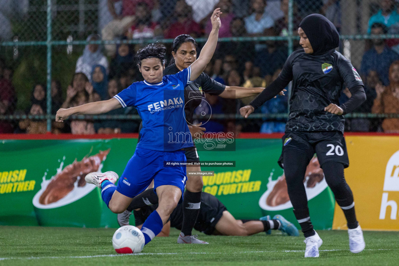
[[[350,112],[365,100],[363,82],[358,72],[341,53],[330,50],[312,55],[300,49],[288,57],[276,81],[250,104],[254,108],[259,107],[277,95],[290,81],[292,91],[286,131],[344,132],[344,116],[324,111],[324,108],[330,103],[339,105],[338,99],[345,87],[350,88],[353,99],[341,106],[344,113]]]

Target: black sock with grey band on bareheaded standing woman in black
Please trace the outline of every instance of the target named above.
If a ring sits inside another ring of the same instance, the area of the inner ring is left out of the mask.
[[[193,227],[196,224],[199,207],[201,205],[201,191],[191,192],[186,189],[183,197],[183,224],[182,233],[191,236]]]

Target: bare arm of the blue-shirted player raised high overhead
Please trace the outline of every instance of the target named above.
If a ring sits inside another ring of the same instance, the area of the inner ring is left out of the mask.
[[[191,64],[190,81],[195,81],[199,77],[199,75],[201,75],[202,71],[204,71],[209,61],[211,61],[217,45],[217,37],[219,35],[219,28],[221,26],[221,14],[222,12],[220,12],[220,8],[216,8],[215,10],[213,10],[211,16],[212,31],[211,33],[209,33],[208,40],[203,46],[201,53],[199,54],[199,58]]]

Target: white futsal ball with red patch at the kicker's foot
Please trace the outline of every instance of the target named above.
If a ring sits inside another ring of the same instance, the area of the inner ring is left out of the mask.
[[[112,237],[112,245],[117,253],[140,253],[144,242],[144,234],[132,225],[120,227]]]

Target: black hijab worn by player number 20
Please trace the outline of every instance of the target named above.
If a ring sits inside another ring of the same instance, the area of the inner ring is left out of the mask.
[[[313,48],[312,55],[320,55],[340,45],[340,35],[330,20],[320,14],[304,18],[299,27],[309,38]]]

